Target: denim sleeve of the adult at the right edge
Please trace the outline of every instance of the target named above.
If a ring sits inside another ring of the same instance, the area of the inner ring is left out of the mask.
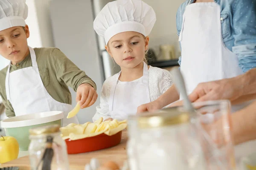
[[[236,0],[233,3],[234,46],[243,72],[256,67],[256,1]]]

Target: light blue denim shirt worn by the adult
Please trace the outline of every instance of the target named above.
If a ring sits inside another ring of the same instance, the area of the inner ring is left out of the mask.
[[[221,7],[221,31],[225,46],[235,53],[243,72],[256,68],[256,0],[214,0]],[[192,0],[191,3],[194,3]],[[183,13],[189,0],[178,8],[176,23],[180,35]],[[181,64],[181,57],[178,61]]]

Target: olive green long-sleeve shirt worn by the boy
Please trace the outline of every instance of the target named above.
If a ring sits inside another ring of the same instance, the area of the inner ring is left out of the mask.
[[[95,82],[58,48],[34,48],[34,50],[44,87],[53,99],[61,103],[71,104],[72,98],[68,86],[76,91],[79,85],[88,83],[96,90]],[[10,72],[31,66],[32,61],[29,54],[22,62],[11,65]],[[15,112],[6,96],[5,80],[7,70],[8,66],[0,71],[0,96],[6,107],[6,116],[13,117]],[[22,101],[23,99],[20,100]]]

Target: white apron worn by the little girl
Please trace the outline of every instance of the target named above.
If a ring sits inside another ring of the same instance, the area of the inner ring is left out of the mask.
[[[112,82],[109,98],[109,111],[111,118],[117,120],[127,119],[135,115],[140,105],[151,102],[148,88],[148,66],[143,62],[143,77],[139,81],[119,82],[121,72]]]

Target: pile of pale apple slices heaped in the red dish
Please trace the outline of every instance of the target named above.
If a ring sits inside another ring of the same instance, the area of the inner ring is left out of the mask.
[[[61,127],[60,130],[62,139],[77,140],[97,136],[102,133],[112,136],[124,130],[126,127],[126,120],[118,122],[116,119],[113,119],[112,121],[109,120],[103,122],[103,118],[101,117],[93,123],[86,122],[82,125],[70,123],[66,127]]]

